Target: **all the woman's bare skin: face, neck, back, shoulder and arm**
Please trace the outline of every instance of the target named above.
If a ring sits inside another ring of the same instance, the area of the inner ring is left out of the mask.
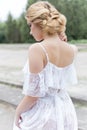
[[[67,42],[66,35],[58,36],[44,36],[41,28],[34,23],[31,23],[30,34],[36,41],[41,41],[41,44],[45,47],[49,60],[52,64],[58,67],[65,67],[73,62],[74,56],[77,52],[77,48]],[[29,70],[31,73],[37,74],[42,71],[47,64],[46,56],[42,48],[37,44],[31,45],[29,48]],[[31,109],[37,102],[38,97],[24,96],[16,109],[15,124],[20,128],[20,121],[22,120],[21,114]]]

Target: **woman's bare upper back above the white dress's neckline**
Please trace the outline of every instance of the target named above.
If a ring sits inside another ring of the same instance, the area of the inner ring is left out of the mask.
[[[65,67],[71,64],[77,52],[77,48],[74,45],[63,42],[58,37],[56,39],[51,38],[47,42],[44,41],[42,44],[48,53],[50,62],[58,67]]]

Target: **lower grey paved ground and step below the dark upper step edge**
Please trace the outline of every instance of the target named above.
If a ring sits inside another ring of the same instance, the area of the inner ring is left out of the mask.
[[[21,88],[0,84],[0,130],[6,130],[7,128],[12,130],[15,108],[23,98],[21,93]],[[87,103],[76,101],[74,105],[78,117],[79,130],[87,130]]]

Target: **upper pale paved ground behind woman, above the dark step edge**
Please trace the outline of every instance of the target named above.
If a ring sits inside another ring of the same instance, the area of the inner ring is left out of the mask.
[[[22,86],[23,66],[27,60],[28,44],[0,45],[0,83]],[[79,47],[82,48],[82,47]],[[85,47],[87,48],[87,46]],[[87,51],[80,51],[75,59],[78,85],[69,87],[72,97],[86,99]],[[83,89],[84,88],[84,89]],[[84,93],[84,94],[83,94]]]

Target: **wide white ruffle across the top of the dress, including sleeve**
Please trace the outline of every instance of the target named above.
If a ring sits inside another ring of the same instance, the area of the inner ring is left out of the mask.
[[[28,64],[23,69],[24,85],[23,94],[44,97],[47,94],[53,94],[66,86],[77,83],[77,76],[74,65],[67,67],[56,67],[48,63],[46,67],[38,74],[30,73]]]

